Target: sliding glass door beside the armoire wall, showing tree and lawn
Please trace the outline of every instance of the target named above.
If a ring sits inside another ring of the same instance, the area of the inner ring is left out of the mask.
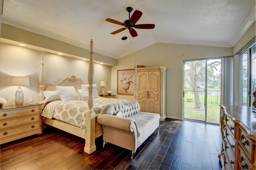
[[[183,117],[220,122],[220,59],[184,62]]]

